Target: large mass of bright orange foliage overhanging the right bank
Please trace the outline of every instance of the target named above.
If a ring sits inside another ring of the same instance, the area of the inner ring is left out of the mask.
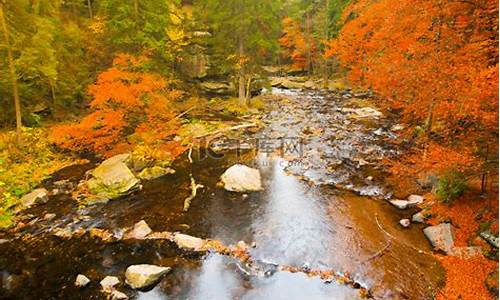
[[[344,22],[327,56],[434,134],[407,168],[477,171],[480,151],[498,153],[497,1],[361,0]]]

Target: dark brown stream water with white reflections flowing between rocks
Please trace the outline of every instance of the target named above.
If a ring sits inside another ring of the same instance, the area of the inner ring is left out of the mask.
[[[167,241],[105,244],[88,235],[64,240],[51,234],[56,227],[117,231],[145,220],[154,231],[181,231],[227,244],[255,242],[252,256],[262,261],[349,272],[375,298],[432,299],[442,270],[428,254],[421,228],[399,227],[399,219],[411,212],[397,211],[383,199],[390,191],[377,161],[396,153],[387,142],[393,134],[390,124],[350,118],[348,110],[342,110],[350,107],[349,97],[340,94],[275,92],[290,100],[275,103],[257,136],[300,137],[301,153],[229,151],[221,159],[195,159],[192,166],[180,159],[174,165],[176,174],[147,182],[141,192],[105,205],[79,208],[68,196],[53,198],[29,213],[56,213],[56,219],[38,220],[0,244],[0,296],[103,299],[99,281],[104,276],[118,276],[123,282],[127,266],[150,263],[171,266],[173,272],[148,292],[136,292],[125,284],[118,289],[135,299],[358,297],[356,290],[303,273],[249,276],[232,258],[188,254]],[[259,168],[264,191],[246,197],[217,187],[219,176],[234,163]],[[56,177],[81,177],[90,167],[76,167]],[[190,173],[205,188],[183,213]],[[367,180],[368,175],[374,180]],[[377,219],[397,240],[373,258],[386,245]],[[79,273],[91,279],[84,289],[73,285]]]

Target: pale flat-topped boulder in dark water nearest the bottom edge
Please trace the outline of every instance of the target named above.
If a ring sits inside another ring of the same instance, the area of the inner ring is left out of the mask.
[[[132,265],[125,271],[125,282],[134,289],[147,289],[160,281],[171,268],[155,265]]]

